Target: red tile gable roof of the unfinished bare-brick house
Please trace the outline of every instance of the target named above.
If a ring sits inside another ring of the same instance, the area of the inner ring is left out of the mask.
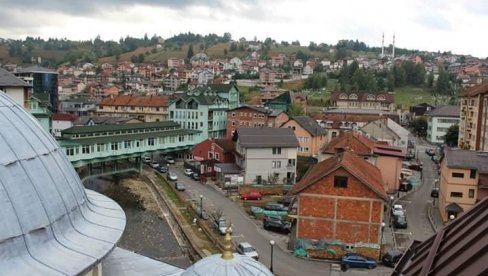
[[[315,184],[320,179],[333,173],[341,167],[358,178],[381,198],[384,200],[388,199],[380,170],[351,151],[337,153],[333,157],[328,158],[310,168],[300,182],[291,188],[290,193],[300,193],[305,188]]]

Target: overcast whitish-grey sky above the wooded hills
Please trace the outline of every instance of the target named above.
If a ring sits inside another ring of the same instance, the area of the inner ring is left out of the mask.
[[[301,45],[358,39],[369,46],[488,56],[487,0],[0,0],[0,37],[118,40],[147,33],[225,32]]]

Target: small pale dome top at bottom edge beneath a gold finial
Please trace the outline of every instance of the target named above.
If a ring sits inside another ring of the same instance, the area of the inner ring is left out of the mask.
[[[181,274],[181,276],[258,276],[273,275],[262,263],[251,257],[233,254],[230,260],[222,259],[221,254],[215,254],[196,262]]]

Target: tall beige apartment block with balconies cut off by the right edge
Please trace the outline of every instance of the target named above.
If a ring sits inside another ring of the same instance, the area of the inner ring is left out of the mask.
[[[460,95],[458,146],[488,151],[488,82],[473,86]]]

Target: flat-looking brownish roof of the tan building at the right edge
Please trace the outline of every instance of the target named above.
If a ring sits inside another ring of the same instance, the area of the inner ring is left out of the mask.
[[[488,152],[472,150],[444,149],[444,159],[447,167],[458,169],[473,169],[480,173],[488,173]]]

